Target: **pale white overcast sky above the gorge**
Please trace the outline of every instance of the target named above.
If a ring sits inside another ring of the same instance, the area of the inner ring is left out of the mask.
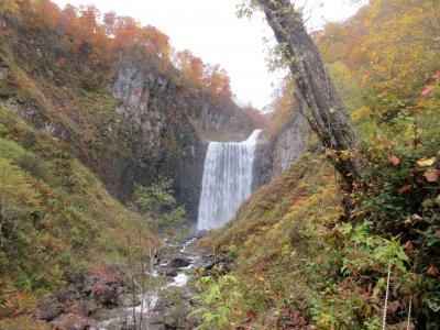
[[[251,21],[238,19],[235,7],[241,0],[54,0],[59,7],[95,4],[101,12],[130,15],[154,25],[170,37],[177,51],[189,50],[205,63],[220,64],[231,77],[233,92],[241,102],[262,109],[272,100],[274,86],[282,74],[270,74],[263,37],[272,34],[262,15]],[[319,0],[309,0],[308,3]],[[350,0],[320,0],[309,25],[341,21],[356,8]]]

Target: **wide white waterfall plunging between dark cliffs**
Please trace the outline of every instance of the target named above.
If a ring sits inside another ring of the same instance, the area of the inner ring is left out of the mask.
[[[211,142],[205,160],[197,228],[221,228],[251,195],[252,166],[261,131],[240,143]]]

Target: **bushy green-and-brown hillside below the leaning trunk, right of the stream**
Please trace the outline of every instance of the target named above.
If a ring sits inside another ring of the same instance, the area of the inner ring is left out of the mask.
[[[334,169],[314,150],[255,193],[227,228],[198,242],[198,249],[234,257],[231,273],[224,275],[220,267],[213,277],[198,283],[197,315],[204,324],[220,329],[381,329],[387,268],[393,265],[388,329],[406,327],[410,304],[410,327],[436,329],[437,275],[425,266],[427,257],[432,262],[429,255],[433,252],[426,252],[422,238],[404,244],[399,237],[373,229],[371,205],[378,206],[391,191],[360,196],[358,220],[346,222],[346,195],[338,187]],[[392,167],[387,165],[383,173],[389,175],[395,170]],[[438,197],[428,200],[432,213],[418,218],[417,228],[426,229],[438,219],[432,216],[438,215]],[[384,216],[383,209],[378,212]]]

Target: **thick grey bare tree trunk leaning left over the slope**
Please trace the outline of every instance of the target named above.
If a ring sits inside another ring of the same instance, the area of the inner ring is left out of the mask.
[[[327,74],[318,47],[299,11],[289,0],[255,0],[275,33],[297,87],[302,114],[327,148],[331,164],[349,183],[358,180],[365,163],[355,128]],[[306,107],[304,107],[306,106]]]

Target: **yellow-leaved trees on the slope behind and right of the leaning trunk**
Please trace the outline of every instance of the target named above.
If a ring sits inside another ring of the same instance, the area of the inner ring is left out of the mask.
[[[367,92],[404,100],[439,69],[439,0],[374,0],[317,41],[326,62],[342,62]]]

